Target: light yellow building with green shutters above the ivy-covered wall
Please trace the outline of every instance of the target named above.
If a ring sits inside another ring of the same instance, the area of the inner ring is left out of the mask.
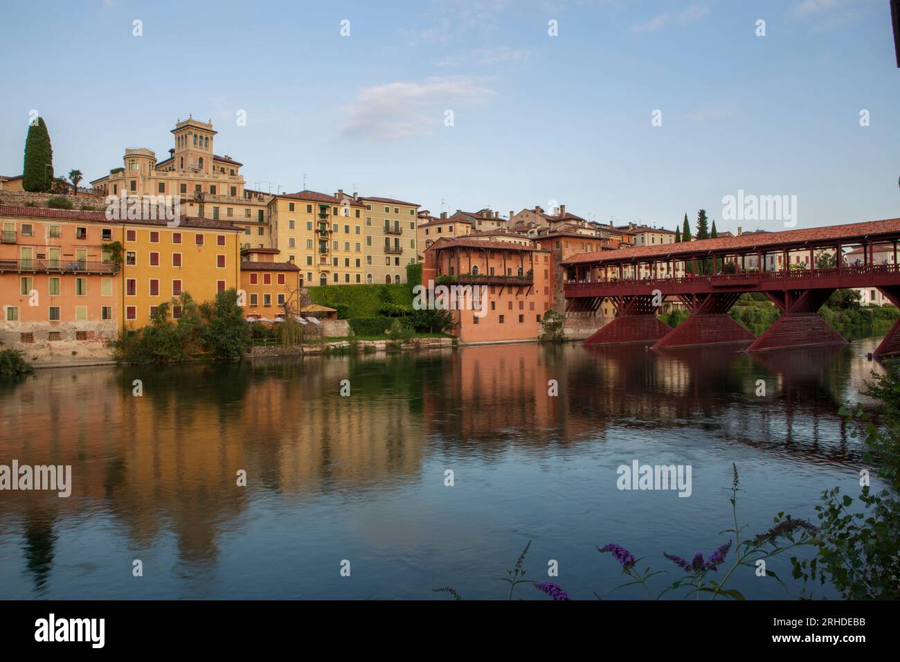
[[[365,205],[339,190],[274,195],[271,248],[300,268],[304,286],[363,283]]]

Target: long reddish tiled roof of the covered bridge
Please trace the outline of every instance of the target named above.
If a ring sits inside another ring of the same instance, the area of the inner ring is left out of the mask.
[[[843,240],[844,243],[866,239],[900,239],[900,218],[884,221],[867,221],[828,225],[821,228],[785,230],[779,232],[745,232],[736,237],[718,237],[685,243],[635,246],[627,249],[578,253],[563,260],[563,265],[634,262],[649,258],[708,256],[710,252],[740,252],[748,254],[757,249],[797,249],[828,246]],[[808,246],[813,244],[813,246]]]

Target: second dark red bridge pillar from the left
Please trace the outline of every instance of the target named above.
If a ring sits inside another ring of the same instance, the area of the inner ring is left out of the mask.
[[[740,296],[740,292],[723,292],[680,297],[688,305],[690,317],[663,336],[653,349],[756,340],[728,314]]]

